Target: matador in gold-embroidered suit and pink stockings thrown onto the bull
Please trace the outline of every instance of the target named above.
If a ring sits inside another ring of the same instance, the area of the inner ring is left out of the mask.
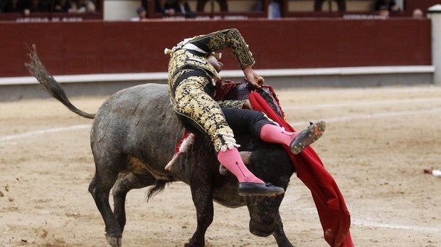
[[[319,121],[302,132],[287,132],[267,119],[262,112],[243,109],[248,107],[246,100],[213,100],[216,90],[214,81],[221,78],[219,71],[222,68],[222,63],[213,54],[225,48],[233,52],[248,83],[257,88],[262,85],[263,78],[251,68],[255,63],[253,55],[237,29],[186,38],[171,50],[166,49],[166,53],[171,56],[169,96],[173,109],[184,126],[211,137],[219,162],[238,178],[240,195],[282,194],[285,192],[283,188],[265,184],[245,167],[238,152],[239,145],[235,142],[233,130],[225,115],[230,119],[241,116],[238,121],[243,121],[243,125],[252,125],[250,129],[260,139],[286,144],[294,154],[319,139],[325,124]]]

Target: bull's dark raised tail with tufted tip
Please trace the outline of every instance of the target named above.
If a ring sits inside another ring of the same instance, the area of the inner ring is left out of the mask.
[[[32,61],[31,63],[25,63],[24,65],[26,66],[26,68],[28,68],[31,75],[33,75],[38,80],[38,82],[40,83],[42,88],[46,90],[46,92],[52,95],[53,98],[60,101],[60,103],[63,103],[63,105],[68,107],[69,110],[75,112],[81,117],[91,119],[95,117],[95,114],[83,112],[82,110],[75,107],[75,105],[72,105],[72,103],[70,103],[70,100],[68,99],[68,96],[66,96],[65,91],[61,87],[60,83],[58,83],[52,77],[52,75],[49,75],[43,63],[41,63],[40,58],[38,58],[35,44],[32,45],[31,53],[29,53],[28,56],[31,58]]]

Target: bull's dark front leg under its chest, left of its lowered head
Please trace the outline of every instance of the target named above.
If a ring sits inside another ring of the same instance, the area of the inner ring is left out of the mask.
[[[206,164],[200,164],[206,165]],[[213,222],[213,188],[207,171],[193,172],[198,175],[192,176],[190,188],[193,204],[196,206],[198,226],[186,246],[205,246],[205,233],[208,226]]]

